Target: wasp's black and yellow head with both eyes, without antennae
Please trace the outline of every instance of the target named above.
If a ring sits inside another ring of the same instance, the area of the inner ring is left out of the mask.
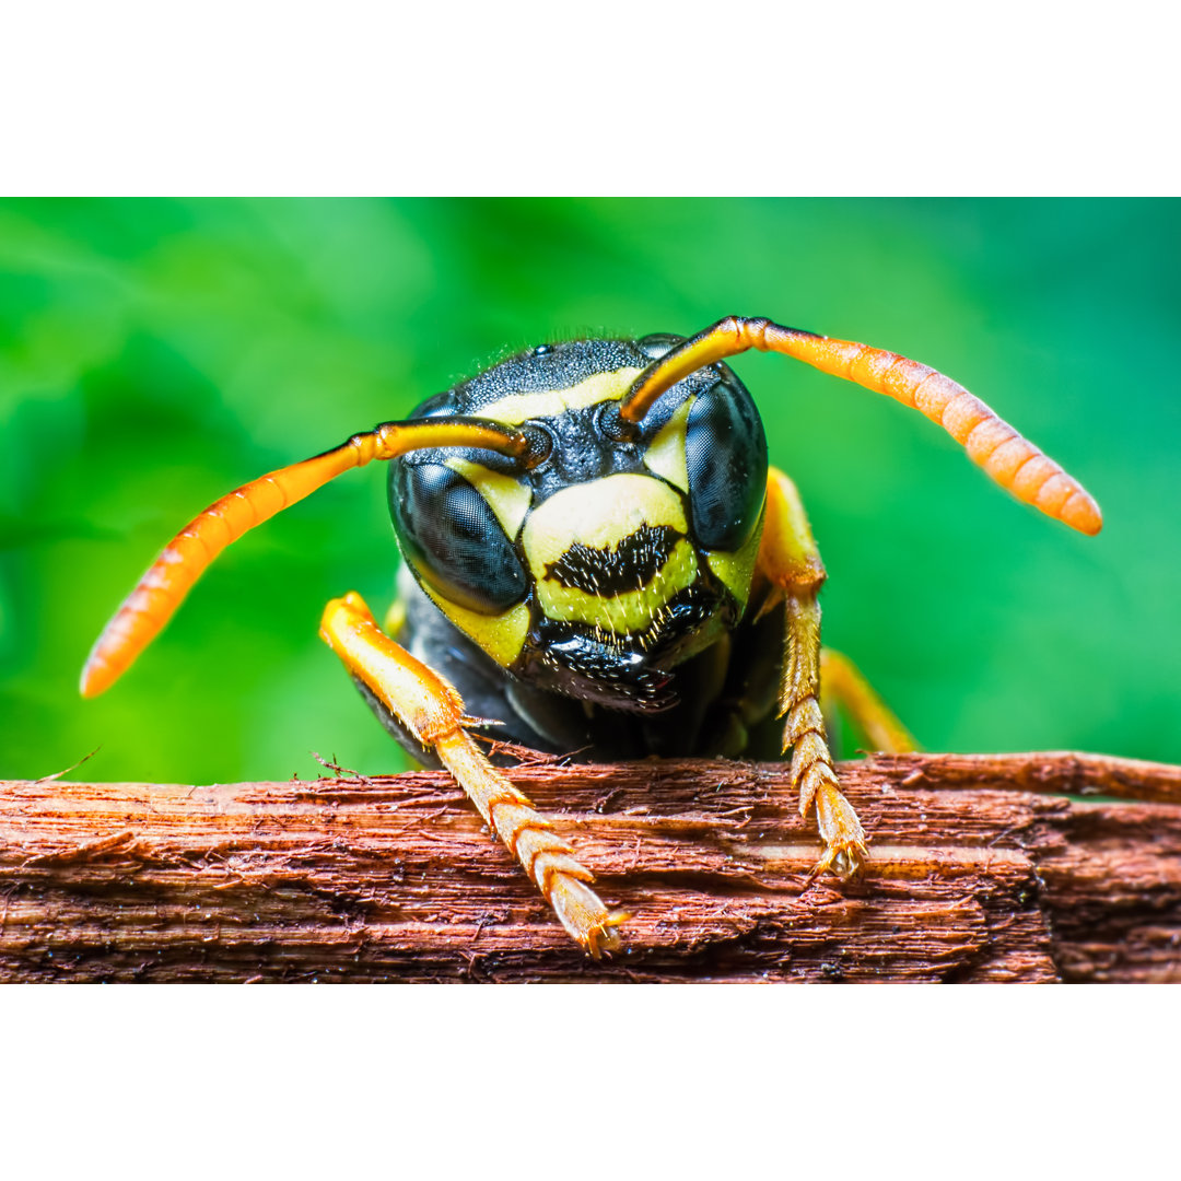
[[[676,668],[737,625],[758,548],[766,439],[723,365],[668,390],[634,430],[618,406],[677,338],[542,346],[437,396],[418,417],[529,433],[529,463],[477,449],[391,463],[407,563],[509,673],[657,712]]]

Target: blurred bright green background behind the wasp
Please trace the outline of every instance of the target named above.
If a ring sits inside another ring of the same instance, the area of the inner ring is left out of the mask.
[[[738,312],[942,368],[1063,463],[1075,535],[920,415],[735,368],[829,569],[826,638],[932,750],[1181,761],[1175,201],[0,203],[0,776],[210,782],[400,752],[317,638],[378,611],[384,471],[240,541],[105,696],[91,642],[196,511],[507,348]]]

